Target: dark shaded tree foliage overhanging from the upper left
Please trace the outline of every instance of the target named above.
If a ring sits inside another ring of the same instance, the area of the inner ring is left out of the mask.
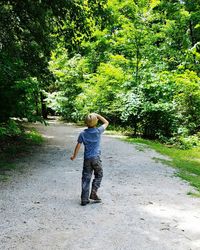
[[[104,5],[104,0],[0,2],[0,122],[45,116],[51,51],[66,47],[76,53],[94,26],[101,27]]]

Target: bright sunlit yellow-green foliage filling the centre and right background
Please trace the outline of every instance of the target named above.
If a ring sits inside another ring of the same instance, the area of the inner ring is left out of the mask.
[[[187,147],[183,138],[197,133],[200,124],[199,41],[191,22],[197,24],[197,12],[187,1],[108,1],[107,25],[81,44],[73,70],[65,54],[60,69],[68,78],[77,75],[71,82],[59,76],[57,110],[73,121],[100,112],[115,125],[132,127],[135,135],[171,138]],[[53,58],[53,64],[58,61]]]

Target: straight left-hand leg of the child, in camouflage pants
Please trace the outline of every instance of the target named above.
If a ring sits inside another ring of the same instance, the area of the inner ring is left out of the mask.
[[[82,171],[82,192],[81,192],[82,201],[88,201],[92,171],[93,169],[91,166],[91,162],[89,160],[84,160],[83,171]]]

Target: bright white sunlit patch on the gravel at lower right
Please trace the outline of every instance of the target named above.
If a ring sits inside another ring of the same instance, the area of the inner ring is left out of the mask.
[[[174,219],[177,222],[177,228],[200,235],[200,214],[195,214],[195,211],[191,213],[191,210],[187,211],[183,207],[151,204],[141,209],[155,217]]]

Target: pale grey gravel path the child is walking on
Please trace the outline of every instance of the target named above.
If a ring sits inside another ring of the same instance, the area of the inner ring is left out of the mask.
[[[197,250],[200,200],[174,170],[145,146],[103,135],[103,202],[80,206],[81,151],[71,156],[81,128],[37,125],[47,138],[21,171],[0,184],[0,249]]]

